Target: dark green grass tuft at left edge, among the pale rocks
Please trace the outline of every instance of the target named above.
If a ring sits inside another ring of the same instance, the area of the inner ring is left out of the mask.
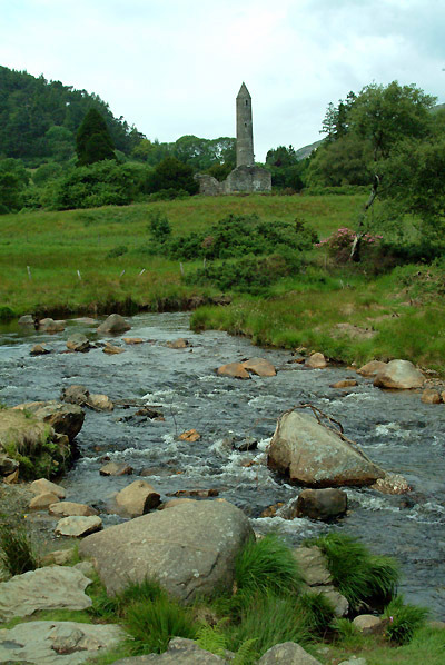
[[[39,566],[37,554],[23,525],[0,526],[0,563],[10,575],[36,570]]]

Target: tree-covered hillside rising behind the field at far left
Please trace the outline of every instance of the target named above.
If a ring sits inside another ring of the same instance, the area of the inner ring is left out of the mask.
[[[20,158],[31,166],[69,159],[90,108],[103,116],[117,150],[128,155],[144,138],[123,118],[115,118],[98,95],[0,67],[0,157]]]

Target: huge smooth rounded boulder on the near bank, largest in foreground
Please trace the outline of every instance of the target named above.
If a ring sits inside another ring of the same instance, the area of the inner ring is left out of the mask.
[[[81,556],[93,557],[108,594],[154,577],[182,602],[231,587],[235,557],[254,537],[246,515],[228,502],[202,500],[150,513],[88,536]]]

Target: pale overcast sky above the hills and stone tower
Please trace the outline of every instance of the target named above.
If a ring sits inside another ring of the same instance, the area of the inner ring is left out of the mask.
[[[375,81],[445,101],[444,0],[0,0],[0,64],[96,92],[147,138],[235,136],[258,161],[320,138],[329,101]]]

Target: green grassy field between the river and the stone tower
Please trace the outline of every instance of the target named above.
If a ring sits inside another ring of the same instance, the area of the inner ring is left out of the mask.
[[[165,212],[174,235],[200,232],[229,214],[303,220],[320,238],[355,227],[364,196],[245,196],[189,199],[0,218],[0,315],[182,309],[220,291],[185,284],[181,265],[147,251],[149,219]],[[187,276],[201,266],[188,257]],[[29,268],[29,269],[28,269]],[[445,356],[443,270],[403,266],[378,277],[334,266],[324,250],[266,294],[230,294],[228,307],[205,306],[196,330],[221,328],[256,344],[322,350],[363,363],[403,357],[442,370]]]

